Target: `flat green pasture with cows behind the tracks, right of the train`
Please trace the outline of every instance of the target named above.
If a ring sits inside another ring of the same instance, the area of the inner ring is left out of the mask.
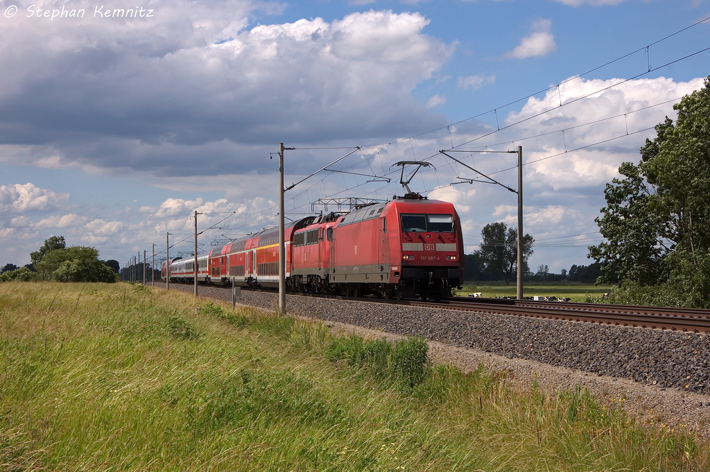
[[[515,280],[506,285],[505,282],[464,282],[462,290],[457,290],[457,295],[467,297],[469,293],[481,292],[483,297],[515,296]],[[572,302],[595,302],[611,292],[613,285],[594,285],[580,282],[528,282],[523,285],[523,296],[532,297],[543,295],[557,298],[569,297]]]

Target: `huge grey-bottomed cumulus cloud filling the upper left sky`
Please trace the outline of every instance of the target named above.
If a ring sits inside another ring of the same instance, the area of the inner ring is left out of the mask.
[[[49,168],[217,175],[263,170],[253,155],[280,141],[442,124],[410,93],[454,48],[422,32],[427,18],[366,11],[249,29],[264,5],[178,0],[155,4],[150,20],[5,21],[0,145]]]

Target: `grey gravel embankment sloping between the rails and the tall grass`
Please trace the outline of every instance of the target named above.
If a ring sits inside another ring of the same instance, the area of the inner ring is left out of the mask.
[[[200,287],[200,296],[231,302],[229,290],[214,287]],[[242,291],[237,302],[273,310],[278,295]],[[685,424],[710,439],[706,334],[291,295],[287,307],[345,331],[424,336],[434,341],[435,361],[464,370],[484,362],[505,369],[521,386],[533,379],[551,390],[582,383],[602,400],[624,398],[625,408],[642,420]]]

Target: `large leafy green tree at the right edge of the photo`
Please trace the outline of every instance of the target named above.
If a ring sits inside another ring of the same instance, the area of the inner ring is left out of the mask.
[[[638,165],[623,163],[597,218],[606,242],[590,246],[604,278],[665,283],[683,304],[710,305],[710,77],[683,97],[678,119],[656,126]]]

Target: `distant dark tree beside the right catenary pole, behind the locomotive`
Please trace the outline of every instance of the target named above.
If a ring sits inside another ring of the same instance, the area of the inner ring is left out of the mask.
[[[481,230],[481,248],[476,255],[488,273],[502,273],[506,285],[518,270],[518,229],[508,228],[505,223],[486,224]],[[535,239],[530,234],[523,236],[523,273],[528,273],[528,257],[532,254]]]

